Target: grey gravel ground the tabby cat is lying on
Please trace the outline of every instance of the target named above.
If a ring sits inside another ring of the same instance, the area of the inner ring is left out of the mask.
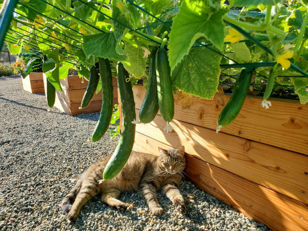
[[[117,144],[109,134],[87,142],[98,116],[47,112],[45,96],[22,90],[20,78],[0,80],[0,230],[269,230],[188,181],[180,185],[186,216],[160,193],[165,212],[153,216],[139,194],[125,192],[120,200],[133,205],[127,212],[96,197],[70,223],[59,207],[62,198],[80,173]]]

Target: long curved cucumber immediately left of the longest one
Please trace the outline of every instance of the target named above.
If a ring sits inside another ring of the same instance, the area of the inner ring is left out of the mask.
[[[108,59],[99,58],[99,73],[102,83],[103,103],[98,122],[92,133],[92,142],[98,141],[108,130],[113,112],[112,73]]]

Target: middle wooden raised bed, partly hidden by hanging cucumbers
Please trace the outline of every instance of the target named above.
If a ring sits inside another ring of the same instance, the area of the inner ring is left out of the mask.
[[[46,75],[44,74],[44,87],[46,88]],[[83,113],[92,113],[101,110],[102,107],[102,91],[95,94],[88,107],[79,109],[83,95],[87,89],[88,81],[79,78],[78,75],[67,76],[66,79],[60,79],[63,91],[56,90],[56,99],[54,107],[68,115],[77,115]],[[113,103],[118,103],[117,95],[117,79],[113,77]]]

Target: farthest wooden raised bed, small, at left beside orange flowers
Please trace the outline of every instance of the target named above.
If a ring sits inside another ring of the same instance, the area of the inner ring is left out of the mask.
[[[45,93],[43,72],[31,72],[26,78],[22,78],[22,87],[30,93]]]

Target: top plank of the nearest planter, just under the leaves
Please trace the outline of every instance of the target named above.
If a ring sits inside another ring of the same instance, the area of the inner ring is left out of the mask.
[[[134,85],[136,108],[140,109],[146,90]],[[227,101],[230,95],[226,95]],[[222,107],[216,100],[199,100],[189,110],[182,111],[175,99],[174,119],[216,130]],[[308,104],[270,99],[272,107],[261,107],[262,99],[247,97],[237,118],[221,132],[255,140],[264,144],[308,154]],[[160,112],[159,112],[160,113]]]

